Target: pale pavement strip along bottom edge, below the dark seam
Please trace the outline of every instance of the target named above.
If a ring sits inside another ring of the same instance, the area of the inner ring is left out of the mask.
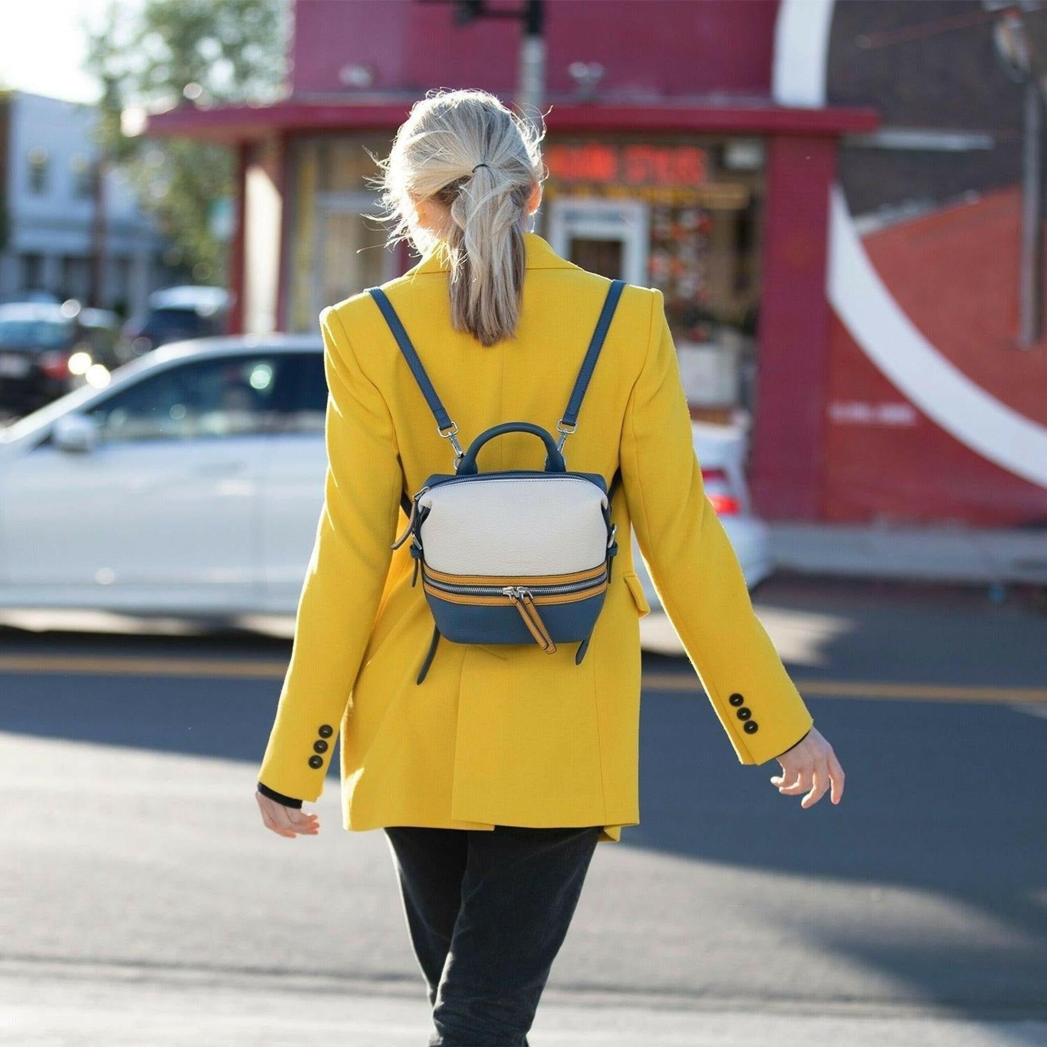
[[[420,1047],[431,1028],[419,985],[402,992],[324,978],[207,978],[143,970],[106,980],[70,972],[0,972],[0,1047]],[[109,973],[112,974],[111,972]],[[43,977],[41,977],[43,975]],[[173,975],[173,977],[172,977]],[[101,977],[99,977],[101,976]],[[774,1006],[760,1000],[576,999],[547,989],[534,1047],[753,1047],[818,1042],[846,1047],[1039,1047],[1047,1023],[945,1009],[846,1004]]]

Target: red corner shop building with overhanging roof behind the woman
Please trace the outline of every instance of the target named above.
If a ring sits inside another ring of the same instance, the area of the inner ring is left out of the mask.
[[[831,20],[827,0],[802,18],[795,0],[547,3],[536,231],[585,268],[664,291],[694,413],[752,419],[754,493],[779,519],[869,518],[890,493],[848,500],[832,486],[870,481],[841,469],[832,438],[848,423],[830,389],[830,200],[842,136],[868,135],[878,115],[805,96],[805,63],[824,87]],[[314,331],[324,306],[414,263],[364,217],[370,154],[387,154],[428,89],[512,102],[520,32],[516,19],[455,26],[439,3],[297,0],[284,101],[149,118],[148,134],[239,150],[239,330]],[[935,511],[910,499],[899,515]]]

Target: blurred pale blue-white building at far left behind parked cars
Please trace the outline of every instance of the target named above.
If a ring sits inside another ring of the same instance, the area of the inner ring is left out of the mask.
[[[127,315],[165,279],[162,238],[119,172],[96,184],[96,120],[83,103],[0,98],[0,300],[46,291]]]

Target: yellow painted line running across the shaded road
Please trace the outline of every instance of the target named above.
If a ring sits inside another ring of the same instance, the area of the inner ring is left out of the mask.
[[[283,680],[284,660],[188,659],[84,654],[0,654],[0,672],[83,674],[113,676],[203,676],[232,680]],[[794,681],[801,694],[812,697],[875,698],[899,701],[1015,701],[1047,704],[1047,688],[964,687],[952,684],[889,684],[883,681]],[[701,694],[701,684],[688,672],[649,672],[643,677],[645,691]]]

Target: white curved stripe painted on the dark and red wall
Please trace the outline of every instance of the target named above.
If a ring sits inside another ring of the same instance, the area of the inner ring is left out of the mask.
[[[834,0],[782,0],[775,27],[774,98],[825,105]],[[862,245],[843,190],[829,210],[829,303],[870,360],[928,418],[1009,472],[1047,487],[1047,428],[973,382],[920,333]]]

